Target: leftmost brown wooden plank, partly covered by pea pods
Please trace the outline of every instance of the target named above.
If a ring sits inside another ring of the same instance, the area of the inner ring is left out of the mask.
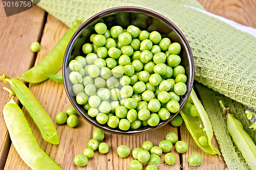
[[[0,5],[0,74],[16,78],[31,67],[35,55],[30,51],[30,44],[39,40],[44,16],[45,11],[34,7],[6,17],[4,7]],[[0,82],[0,169],[4,168],[11,145],[3,117],[3,108],[8,100],[8,92],[3,90],[3,86],[10,85]]]

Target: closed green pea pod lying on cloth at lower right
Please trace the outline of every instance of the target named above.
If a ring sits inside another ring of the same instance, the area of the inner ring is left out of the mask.
[[[229,108],[225,108],[222,101],[220,101],[220,105],[227,116],[227,131],[231,135],[234,144],[237,145],[248,165],[254,164],[256,162],[256,145],[244,131],[241,122],[229,113]],[[255,166],[250,166],[250,168],[256,170]]]

